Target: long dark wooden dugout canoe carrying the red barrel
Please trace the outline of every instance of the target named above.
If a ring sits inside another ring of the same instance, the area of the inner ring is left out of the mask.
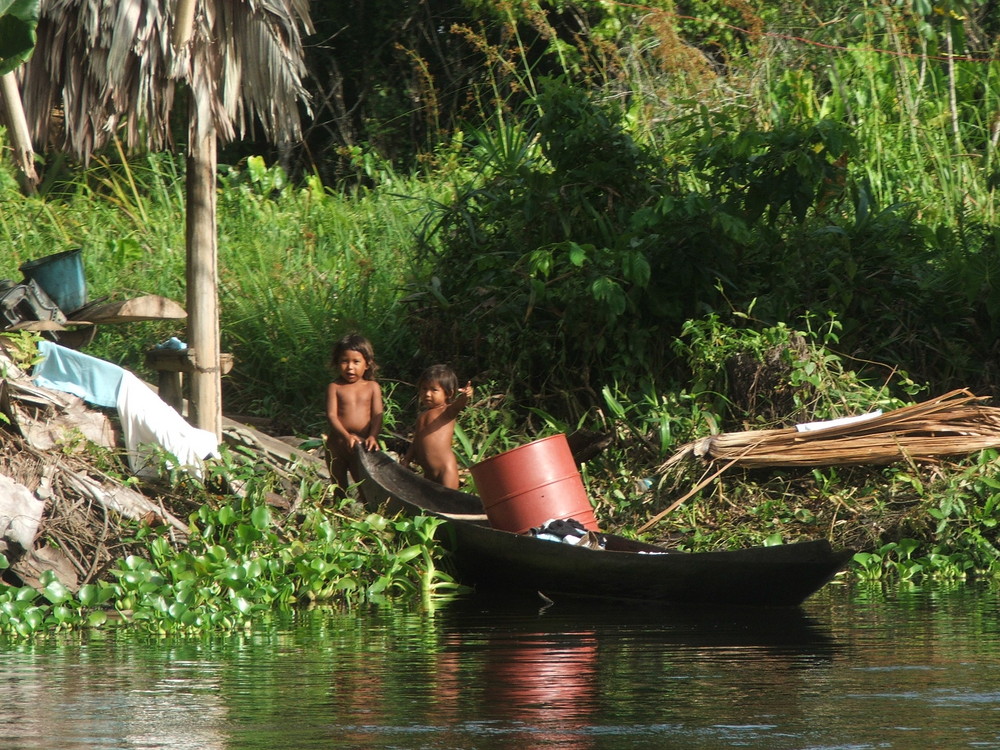
[[[514,534],[490,526],[476,495],[442,487],[381,451],[358,450],[366,506],[436,516],[444,563],[477,591],[540,593],[662,604],[794,607],[854,554],[825,540],[717,552],[678,552],[605,533],[604,549]]]

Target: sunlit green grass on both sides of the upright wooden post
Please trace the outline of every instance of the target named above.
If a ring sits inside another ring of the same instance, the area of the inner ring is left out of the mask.
[[[0,186],[0,278],[20,280],[25,261],[80,247],[91,300],[159,294],[185,303],[183,176],[168,155],[96,164],[45,198],[23,198],[12,178]],[[373,340],[390,380],[405,369],[394,364],[419,357],[397,302],[417,275],[417,209],[434,191],[399,176],[355,192],[315,180],[293,187],[258,159],[224,170],[220,326],[235,360],[227,412],[320,429],[329,352],[350,330]],[[152,378],[144,352],[184,332],[184,321],[106,325],[87,351]]]

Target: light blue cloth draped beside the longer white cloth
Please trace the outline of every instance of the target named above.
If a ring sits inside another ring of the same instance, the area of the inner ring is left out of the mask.
[[[97,406],[117,405],[124,369],[51,341],[39,343],[38,351],[43,359],[35,365],[35,385],[72,393]]]

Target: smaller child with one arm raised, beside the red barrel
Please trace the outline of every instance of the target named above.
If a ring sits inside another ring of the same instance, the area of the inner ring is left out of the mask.
[[[456,395],[457,394],[457,395]],[[420,415],[413,443],[403,456],[403,466],[416,463],[432,482],[458,489],[458,460],[451,449],[458,413],[472,399],[472,383],[458,387],[458,378],[447,365],[432,365],[417,381]]]

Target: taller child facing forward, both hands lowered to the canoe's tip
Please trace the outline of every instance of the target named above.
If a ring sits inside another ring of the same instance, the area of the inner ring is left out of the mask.
[[[347,488],[348,467],[354,446],[378,449],[382,429],[382,389],[375,381],[375,353],[371,342],[356,333],[348,334],[333,347],[332,364],[337,379],[326,389],[327,463],[339,487]]]

